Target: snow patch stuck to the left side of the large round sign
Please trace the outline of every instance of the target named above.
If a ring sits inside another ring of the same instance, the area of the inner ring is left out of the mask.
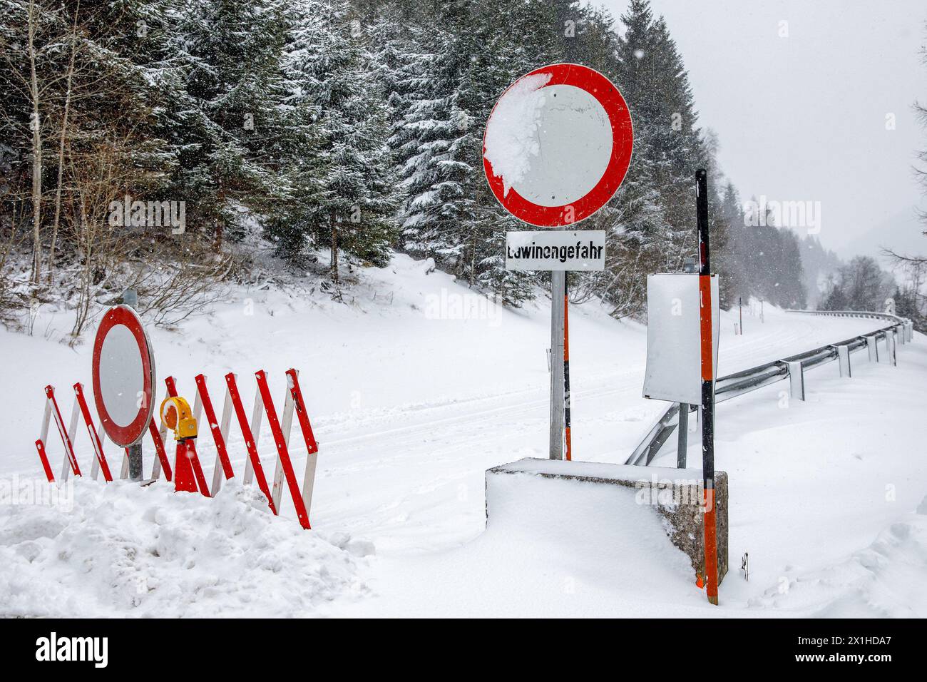
[[[552,78],[550,73],[536,73],[517,81],[499,98],[486,124],[486,159],[492,174],[502,178],[504,196],[513,185],[525,179],[531,169],[531,157],[538,156],[538,124],[544,108],[541,88]]]

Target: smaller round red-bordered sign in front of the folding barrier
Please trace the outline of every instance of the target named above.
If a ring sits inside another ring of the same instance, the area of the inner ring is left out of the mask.
[[[94,400],[112,442],[142,440],[155,405],[155,358],[142,320],[116,305],[103,315],[94,341]]]

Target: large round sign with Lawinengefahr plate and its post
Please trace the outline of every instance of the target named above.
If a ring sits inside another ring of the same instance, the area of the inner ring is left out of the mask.
[[[602,73],[549,64],[511,84],[489,113],[483,170],[502,208],[528,225],[567,227],[615,195],[634,130],[624,97]],[[550,457],[572,457],[566,271],[603,270],[603,231],[510,232],[507,270],[551,271]]]

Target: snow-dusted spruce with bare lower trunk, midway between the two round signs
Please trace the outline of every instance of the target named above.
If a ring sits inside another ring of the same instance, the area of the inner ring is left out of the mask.
[[[315,112],[317,191],[309,211],[337,283],[339,251],[384,264],[393,240],[387,93],[369,45],[375,27],[356,19],[349,3],[300,0],[295,11],[288,101]]]

